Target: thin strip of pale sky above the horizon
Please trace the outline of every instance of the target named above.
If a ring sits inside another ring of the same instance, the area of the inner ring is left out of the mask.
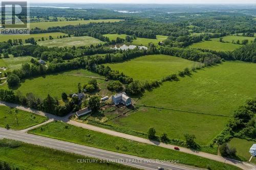
[[[30,3],[126,3],[126,4],[256,4],[256,0],[30,0]]]

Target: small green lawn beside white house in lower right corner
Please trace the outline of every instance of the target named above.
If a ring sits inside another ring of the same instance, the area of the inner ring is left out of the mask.
[[[229,145],[237,149],[237,155],[243,157],[245,161],[249,161],[251,154],[249,150],[252,144],[256,143],[255,141],[248,141],[246,139],[233,138],[230,140]],[[251,163],[256,164],[256,158],[252,157]]]

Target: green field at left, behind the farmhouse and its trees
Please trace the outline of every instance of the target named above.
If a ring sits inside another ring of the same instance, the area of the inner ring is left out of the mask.
[[[88,83],[90,77],[96,77],[95,74],[91,74],[90,71],[86,70],[73,70],[62,72],[60,74],[46,75],[33,79],[22,80],[19,87],[13,88],[15,91],[19,90],[23,94],[32,92],[34,95],[45,98],[48,94],[61,99],[61,93],[66,92],[67,94],[77,92],[78,83]],[[99,77],[99,76],[98,76]],[[104,79],[97,79],[100,91],[97,91],[100,95],[111,93],[106,89],[106,82]],[[0,86],[1,87],[1,86]],[[3,85],[2,88],[7,89],[7,84]]]

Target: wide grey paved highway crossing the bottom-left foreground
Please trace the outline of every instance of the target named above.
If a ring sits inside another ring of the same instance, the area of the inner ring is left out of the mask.
[[[61,151],[67,151],[67,152],[76,153],[79,155],[89,156],[93,158],[98,158],[106,161],[115,160],[115,162],[117,163],[122,163],[125,165],[137,167],[140,169],[151,170],[151,169],[157,169],[160,166],[164,167],[164,169],[173,169],[173,170],[196,169],[196,168],[179,166],[178,164],[162,163],[162,162],[157,162],[157,160],[153,160],[153,159],[145,159],[145,158],[140,158],[136,156],[96,149],[92,147],[86,147],[80,144],[37,136],[33,134],[27,134],[21,131],[6,130],[4,128],[0,128],[0,134],[1,134],[1,137],[4,137],[4,138],[41,145],[43,147],[53,148]],[[81,159],[83,158],[81,157]]]

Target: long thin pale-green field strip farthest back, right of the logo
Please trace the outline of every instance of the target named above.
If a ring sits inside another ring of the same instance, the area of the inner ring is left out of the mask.
[[[72,20],[72,21],[53,21],[53,22],[32,22],[30,23],[30,29],[40,28],[47,30],[49,27],[63,27],[63,26],[75,26],[79,24],[88,24],[90,22],[118,22],[123,19],[98,19],[98,20]]]

